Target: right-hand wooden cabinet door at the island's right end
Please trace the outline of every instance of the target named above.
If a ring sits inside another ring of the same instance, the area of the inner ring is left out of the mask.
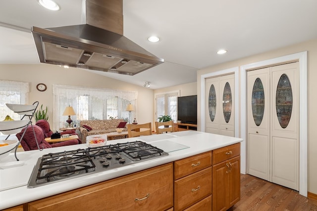
[[[227,182],[227,208],[240,201],[240,156],[228,160],[230,166]]]

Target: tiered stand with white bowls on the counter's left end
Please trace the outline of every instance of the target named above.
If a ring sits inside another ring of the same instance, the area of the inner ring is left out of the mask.
[[[34,102],[32,105],[6,104],[6,106],[8,108],[10,108],[13,112],[18,113],[20,115],[23,115],[23,117],[21,118],[21,120],[2,121],[1,122],[0,132],[2,132],[4,135],[8,135],[5,138],[5,140],[7,140],[10,135],[19,133],[22,130],[22,128],[27,127],[28,125],[31,125],[32,129],[33,129],[33,134],[35,137],[36,144],[38,146],[38,149],[41,150],[40,146],[38,144],[38,141],[36,139],[35,131],[34,131],[34,128],[32,125],[32,117],[34,116],[35,110],[38,107],[38,105],[39,105],[38,101]],[[26,119],[24,119],[24,117],[26,117]],[[14,147],[12,149],[10,149],[4,153],[1,153],[0,155],[6,154],[15,148],[14,156],[15,156],[16,160],[19,161],[19,159],[16,157],[16,151],[18,149],[18,146],[19,146],[25,132],[26,132],[26,130],[23,131],[23,134],[22,134],[20,140],[18,141],[18,143],[16,145],[14,145]]]

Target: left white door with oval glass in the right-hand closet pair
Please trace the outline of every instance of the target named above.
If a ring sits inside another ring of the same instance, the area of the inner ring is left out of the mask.
[[[269,180],[270,68],[247,72],[248,173]]]

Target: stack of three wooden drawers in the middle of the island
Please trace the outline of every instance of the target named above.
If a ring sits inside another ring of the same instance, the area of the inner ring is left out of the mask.
[[[174,210],[211,208],[211,152],[174,162]],[[198,203],[197,205],[195,203]],[[210,203],[210,204],[208,204]]]

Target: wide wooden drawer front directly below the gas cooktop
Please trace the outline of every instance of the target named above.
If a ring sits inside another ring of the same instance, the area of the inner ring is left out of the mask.
[[[29,211],[164,211],[173,207],[173,164],[28,203]]]

